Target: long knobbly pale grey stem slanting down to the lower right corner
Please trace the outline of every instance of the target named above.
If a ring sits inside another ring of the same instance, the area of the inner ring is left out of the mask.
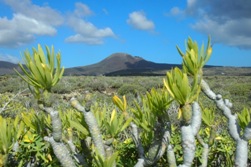
[[[244,135],[240,135],[240,127],[237,121],[237,115],[232,114],[230,108],[232,103],[229,100],[223,100],[221,95],[216,95],[208,86],[208,84],[202,80],[201,89],[207,95],[208,98],[216,103],[216,106],[222,111],[223,115],[228,119],[228,129],[230,136],[236,142],[235,151],[235,166],[246,167],[248,160],[248,140],[251,138],[250,124],[245,128]]]

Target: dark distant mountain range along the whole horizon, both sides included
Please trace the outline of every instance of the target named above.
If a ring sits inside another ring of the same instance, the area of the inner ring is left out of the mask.
[[[165,75],[166,72],[179,64],[154,63],[139,56],[127,53],[114,53],[102,61],[80,67],[66,68],[64,75],[105,75],[105,76],[130,76],[130,75]],[[0,75],[15,74],[13,69],[20,71],[17,64],[0,61]],[[204,75],[248,75],[251,76],[251,67],[221,67],[205,66]]]

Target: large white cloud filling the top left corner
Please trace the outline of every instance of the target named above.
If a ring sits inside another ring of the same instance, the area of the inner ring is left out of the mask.
[[[12,18],[0,17],[0,46],[17,47],[32,42],[36,35],[55,35],[63,23],[59,12],[29,0],[5,0],[14,11]],[[53,16],[53,17],[52,17]]]

